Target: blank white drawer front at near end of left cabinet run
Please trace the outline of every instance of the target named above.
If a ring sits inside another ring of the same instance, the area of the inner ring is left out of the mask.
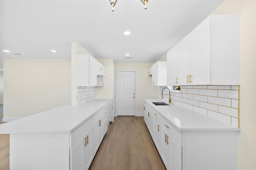
[[[82,125],[71,132],[71,148],[83,137],[83,135],[92,127],[92,116],[87,119]]]

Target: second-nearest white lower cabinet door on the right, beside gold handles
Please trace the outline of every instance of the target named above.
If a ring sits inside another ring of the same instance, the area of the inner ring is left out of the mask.
[[[166,169],[170,170],[170,161],[171,161],[171,145],[170,145],[170,135],[162,127],[162,160]]]

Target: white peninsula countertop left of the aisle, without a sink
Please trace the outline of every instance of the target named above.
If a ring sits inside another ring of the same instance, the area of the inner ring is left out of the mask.
[[[71,133],[107,102],[62,106],[0,125],[0,134]]]

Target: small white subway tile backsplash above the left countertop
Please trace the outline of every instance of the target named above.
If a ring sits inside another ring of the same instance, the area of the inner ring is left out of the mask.
[[[96,87],[77,86],[77,105],[94,100],[96,96]]]

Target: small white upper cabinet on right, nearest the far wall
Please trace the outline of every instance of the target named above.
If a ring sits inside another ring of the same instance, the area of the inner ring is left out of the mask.
[[[167,62],[157,61],[149,69],[152,72],[152,86],[166,86],[167,85]],[[151,75],[151,74],[148,74]]]

